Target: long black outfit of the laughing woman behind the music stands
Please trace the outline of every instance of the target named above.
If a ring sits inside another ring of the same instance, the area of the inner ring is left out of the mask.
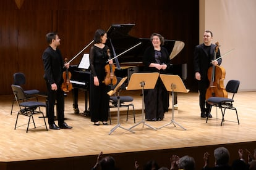
[[[150,63],[164,63],[169,65],[168,51],[161,47],[161,51],[155,51],[153,46],[146,49],[143,55],[143,64],[145,72],[160,72],[164,73],[165,70],[158,70],[153,67],[149,67]],[[145,90],[144,92],[145,103],[145,119],[156,121],[164,118],[164,113],[168,112],[169,108],[169,92],[164,87],[160,77],[156,82],[155,89]]]

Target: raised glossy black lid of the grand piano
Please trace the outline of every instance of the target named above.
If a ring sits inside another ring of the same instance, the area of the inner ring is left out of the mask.
[[[135,38],[134,36],[129,35],[129,31],[134,26],[135,24],[132,23],[112,24],[108,28],[108,39],[106,41],[106,44],[108,45],[109,49],[111,49],[112,57],[115,57],[113,55],[113,51],[115,51],[116,55],[118,55],[126,51],[130,47],[139,44],[139,42],[142,42],[142,44],[140,44],[139,46],[118,57],[119,63],[142,62],[143,53],[145,52],[145,49],[151,44],[150,38]],[[111,44],[113,45],[113,47],[111,46]],[[184,42],[164,39],[163,46],[168,50],[170,54],[170,59],[173,59],[183,49]]]

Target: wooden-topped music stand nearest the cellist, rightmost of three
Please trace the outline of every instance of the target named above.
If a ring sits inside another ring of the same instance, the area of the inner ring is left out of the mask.
[[[165,124],[161,127],[158,127],[158,129],[161,129],[162,127],[168,126],[169,124],[174,125],[174,127],[177,126],[181,127],[182,129],[186,130],[184,127],[182,127],[180,124],[176,123],[176,121],[174,121],[174,92],[189,92],[188,89],[186,89],[182,79],[178,76],[178,75],[160,75],[161,80],[163,81],[164,86],[166,87],[168,92],[172,92],[172,118],[171,118],[171,122],[168,124]]]

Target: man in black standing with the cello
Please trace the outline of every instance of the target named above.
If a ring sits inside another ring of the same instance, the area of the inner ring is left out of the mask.
[[[207,92],[207,88],[210,84],[208,81],[208,68],[212,65],[220,65],[222,59],[218,59],[220,57],[220,50],[216,52],[215,56],[215,44],[212,44],[211,41],[213,39],[213,33],[211,31],[206,30],[203,34],[203,44],[199,44],[195,47],[194,51],[194,71],[195,78],[198,81],[198,91],[199,95],[199,104],[201,110],[201,118],[206,118],[207,114],[210,110],[210,105],[205,102],[205,94]],[[213,60],[214,57],[218,60]],[[209,118],[212,116],[209,115]]]

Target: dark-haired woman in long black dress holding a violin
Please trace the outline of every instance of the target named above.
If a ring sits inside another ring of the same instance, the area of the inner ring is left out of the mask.
[[[100,121],[104,125],[108,125],[109,112],[109,95],[110,87],[106,86],[103,81],[105,79],[105,65],[108,64],[108,46],[105,45],[107,40],[106,31],[98,29],[95,31],[94,45],[90,49],[90,115],[94,125],[100,125]],[[109,63],[113,63],[112,60]]]

